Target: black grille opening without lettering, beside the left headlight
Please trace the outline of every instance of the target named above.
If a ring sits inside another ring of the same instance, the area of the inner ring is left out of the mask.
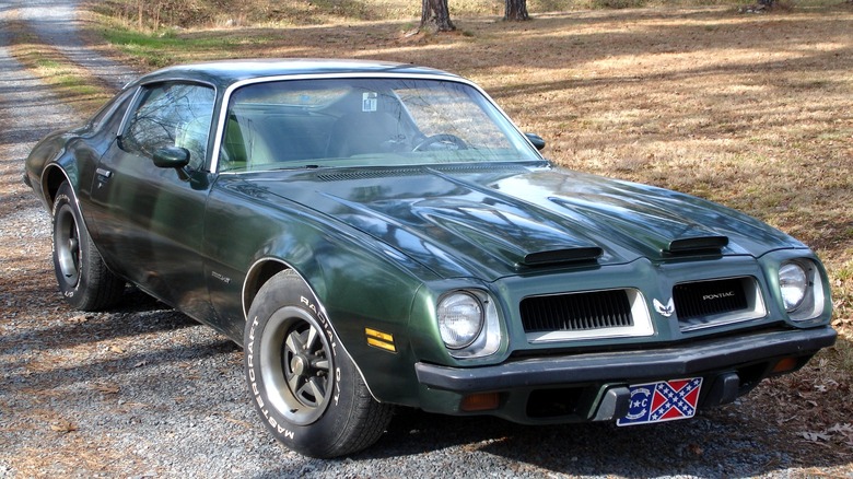
[[[624,290],[525,297],[521,309],[526,332],[633,326],[631,303]]]

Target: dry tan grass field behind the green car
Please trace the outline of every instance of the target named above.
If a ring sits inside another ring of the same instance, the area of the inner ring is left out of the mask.
[[[725,203],[817,249],[853,308],[853,5],[608,10],[407,36],[409,24],[109,36],[137,61],[343,57],[451,70],[483,85],[572,168]],[[155,55],[151,57],[150,54]],[[152,60],[153,58],[153,60]]]

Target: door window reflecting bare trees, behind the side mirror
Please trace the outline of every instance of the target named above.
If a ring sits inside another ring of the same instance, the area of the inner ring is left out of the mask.
[[[196,84],[160,83],[144,87],[121,136],[121,147],[147,157],[153,157],[161,148],[186,148],[190,167],[203,167],[213,100],[213,89]]]

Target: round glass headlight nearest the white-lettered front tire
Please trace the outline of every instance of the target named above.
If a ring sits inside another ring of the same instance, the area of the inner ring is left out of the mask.
[[[467,292],[448,294],[439,302],[439,330],[449,349],[470,346],[482,330],[484,314],[479,299]]]

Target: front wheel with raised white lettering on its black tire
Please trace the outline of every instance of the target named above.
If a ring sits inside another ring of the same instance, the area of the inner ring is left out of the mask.
[[[264,425],[288,448],[330,458],[382,436],[393,409],[370,394],[324,316],[293,271],[273,276],[249,308],[246,381]]]

